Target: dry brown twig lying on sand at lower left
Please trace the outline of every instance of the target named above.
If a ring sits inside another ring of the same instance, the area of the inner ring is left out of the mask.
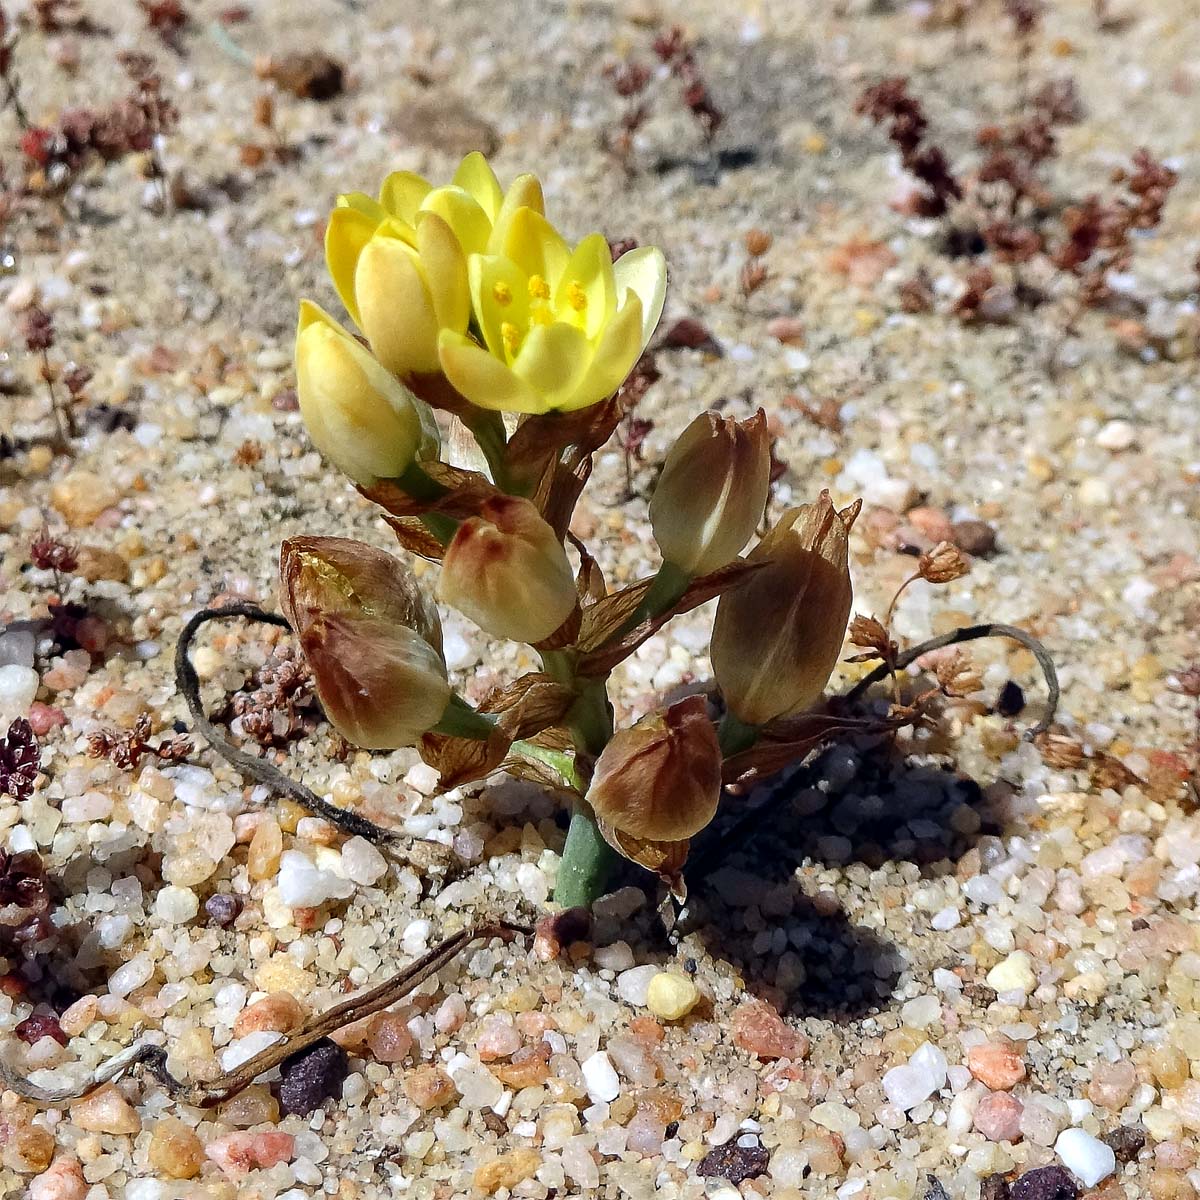
[[[40,1087],[32,1080],[18,1074],[0,1057],[0,1084],[5,1088],[16,1092],[19,1097],[31,1100],[47,1108],[70,1104],[73,1100],[94,1092],[97,1087],[109,1080],[122,1075],[134,1067],[142,1066],[162,1084],[173,1100],[187,1104],[193,1108],[209,1109],[216,1104],[236,1096],[242,1088],[248,1087],[259,1075],[274,1070],[284,1060],[306,1050],[314,1042],[328,1038],[331,1033],[361,1021],[367,1016],[391,1007],[397,1001],[403,1000],[409,992],[419,988],[426,979],[436,976],[443,967],[448,966],[462,950],[473,942],[500,937],[511,941],[516,934],[530,934],[526,925],[517,925],[508,920],[488,922],[482,925],[470,925],[461,930],[452,937],[438,943],[402,971],[377,984],[374,988],[350,996],[332,1008],[326,1008],[323,1013],[310,1016],[295,1032],[288,1033],[282,1040],[259,1051],[252,1058],[246,1060],[240,1067],[217,1075],[216,1079],[203,1082],[187,1082],[176,1079],[167,1069],[167,1051],[163,1046],[148,1042],[138,1042],[114,1055],[102,1067],[100,1067],[90,1079],[74,1087]]]

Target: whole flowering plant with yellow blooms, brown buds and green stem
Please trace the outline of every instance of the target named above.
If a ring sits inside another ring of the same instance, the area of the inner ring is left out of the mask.
[[[610,589],[566,530],[662,312],[661,252],[614,262],[599,233],[572,247],[533,175],[505,191],[478,154],[449,185],[397,172],[376,199],[342,196],[325,248],[362,338],[302,302],[296,380],[312,440],[406,551],[440,564],[439,601],[541,659],[473,707],[451,686],[437,606],[398,559],[295,538],[281,556],[284,611],[326,715],[360,746],[416,745],[445,787],[503,768],[569,793],[560,902],[599,893],[606,844],[678,890],[722,782],[814,745],[797,721],[845,637],[857,505],[839,512],[823,493],[739,557],[766,515],[767,421],[703,413],[650,502],[658,574]],[[474,437],[475,468],[443,460],[448,421]],[[612,670],[716,596],[720,722],[692,696],[616,731]]]

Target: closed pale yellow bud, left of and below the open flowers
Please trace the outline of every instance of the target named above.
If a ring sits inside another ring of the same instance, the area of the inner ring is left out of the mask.
[[[436,452],[428,407],[311,300],[300,304],[295,364],[313,445],[356,484],[396,479]]]

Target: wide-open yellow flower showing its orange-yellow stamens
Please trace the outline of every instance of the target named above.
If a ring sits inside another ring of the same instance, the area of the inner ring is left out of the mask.
[[[652,246],[616,263],[600,234],[571,251],[535,209],[497,224],[487,253],[469,258],[482,346],[444,328],[442,371],[481,408],[570,412],[611,396],[662,313],[666,262]]]

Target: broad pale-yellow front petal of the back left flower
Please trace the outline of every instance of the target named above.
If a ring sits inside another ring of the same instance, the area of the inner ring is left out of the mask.
[[[416,252],[398,238],[372,238],[354,275],[359,328],[394,374],[438,368],[438,320]]]

